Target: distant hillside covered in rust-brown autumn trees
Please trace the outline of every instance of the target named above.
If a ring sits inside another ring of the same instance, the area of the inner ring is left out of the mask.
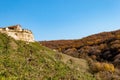
[[[91,57],[120,68],[120,30],[102,32],[78,40],[41,41],[42,45],[77,58]]]

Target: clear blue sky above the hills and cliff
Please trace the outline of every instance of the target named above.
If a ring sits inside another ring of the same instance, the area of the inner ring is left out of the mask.
[[[0,27],[16,24],[36,41],[80,39],[120,29],[120,0],[0,0]]]

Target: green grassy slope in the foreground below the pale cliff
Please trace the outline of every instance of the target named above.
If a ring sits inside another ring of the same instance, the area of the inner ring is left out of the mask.
[[[85,59],[0,33],[0,80],[95,80]]]

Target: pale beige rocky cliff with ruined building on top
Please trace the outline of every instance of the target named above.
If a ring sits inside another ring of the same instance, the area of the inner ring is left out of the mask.
[[[11,36],[15,40],[34,42],[34,36],[32,32],[30,30],[22,29],[20,25],[0,28],[0,32]]]

